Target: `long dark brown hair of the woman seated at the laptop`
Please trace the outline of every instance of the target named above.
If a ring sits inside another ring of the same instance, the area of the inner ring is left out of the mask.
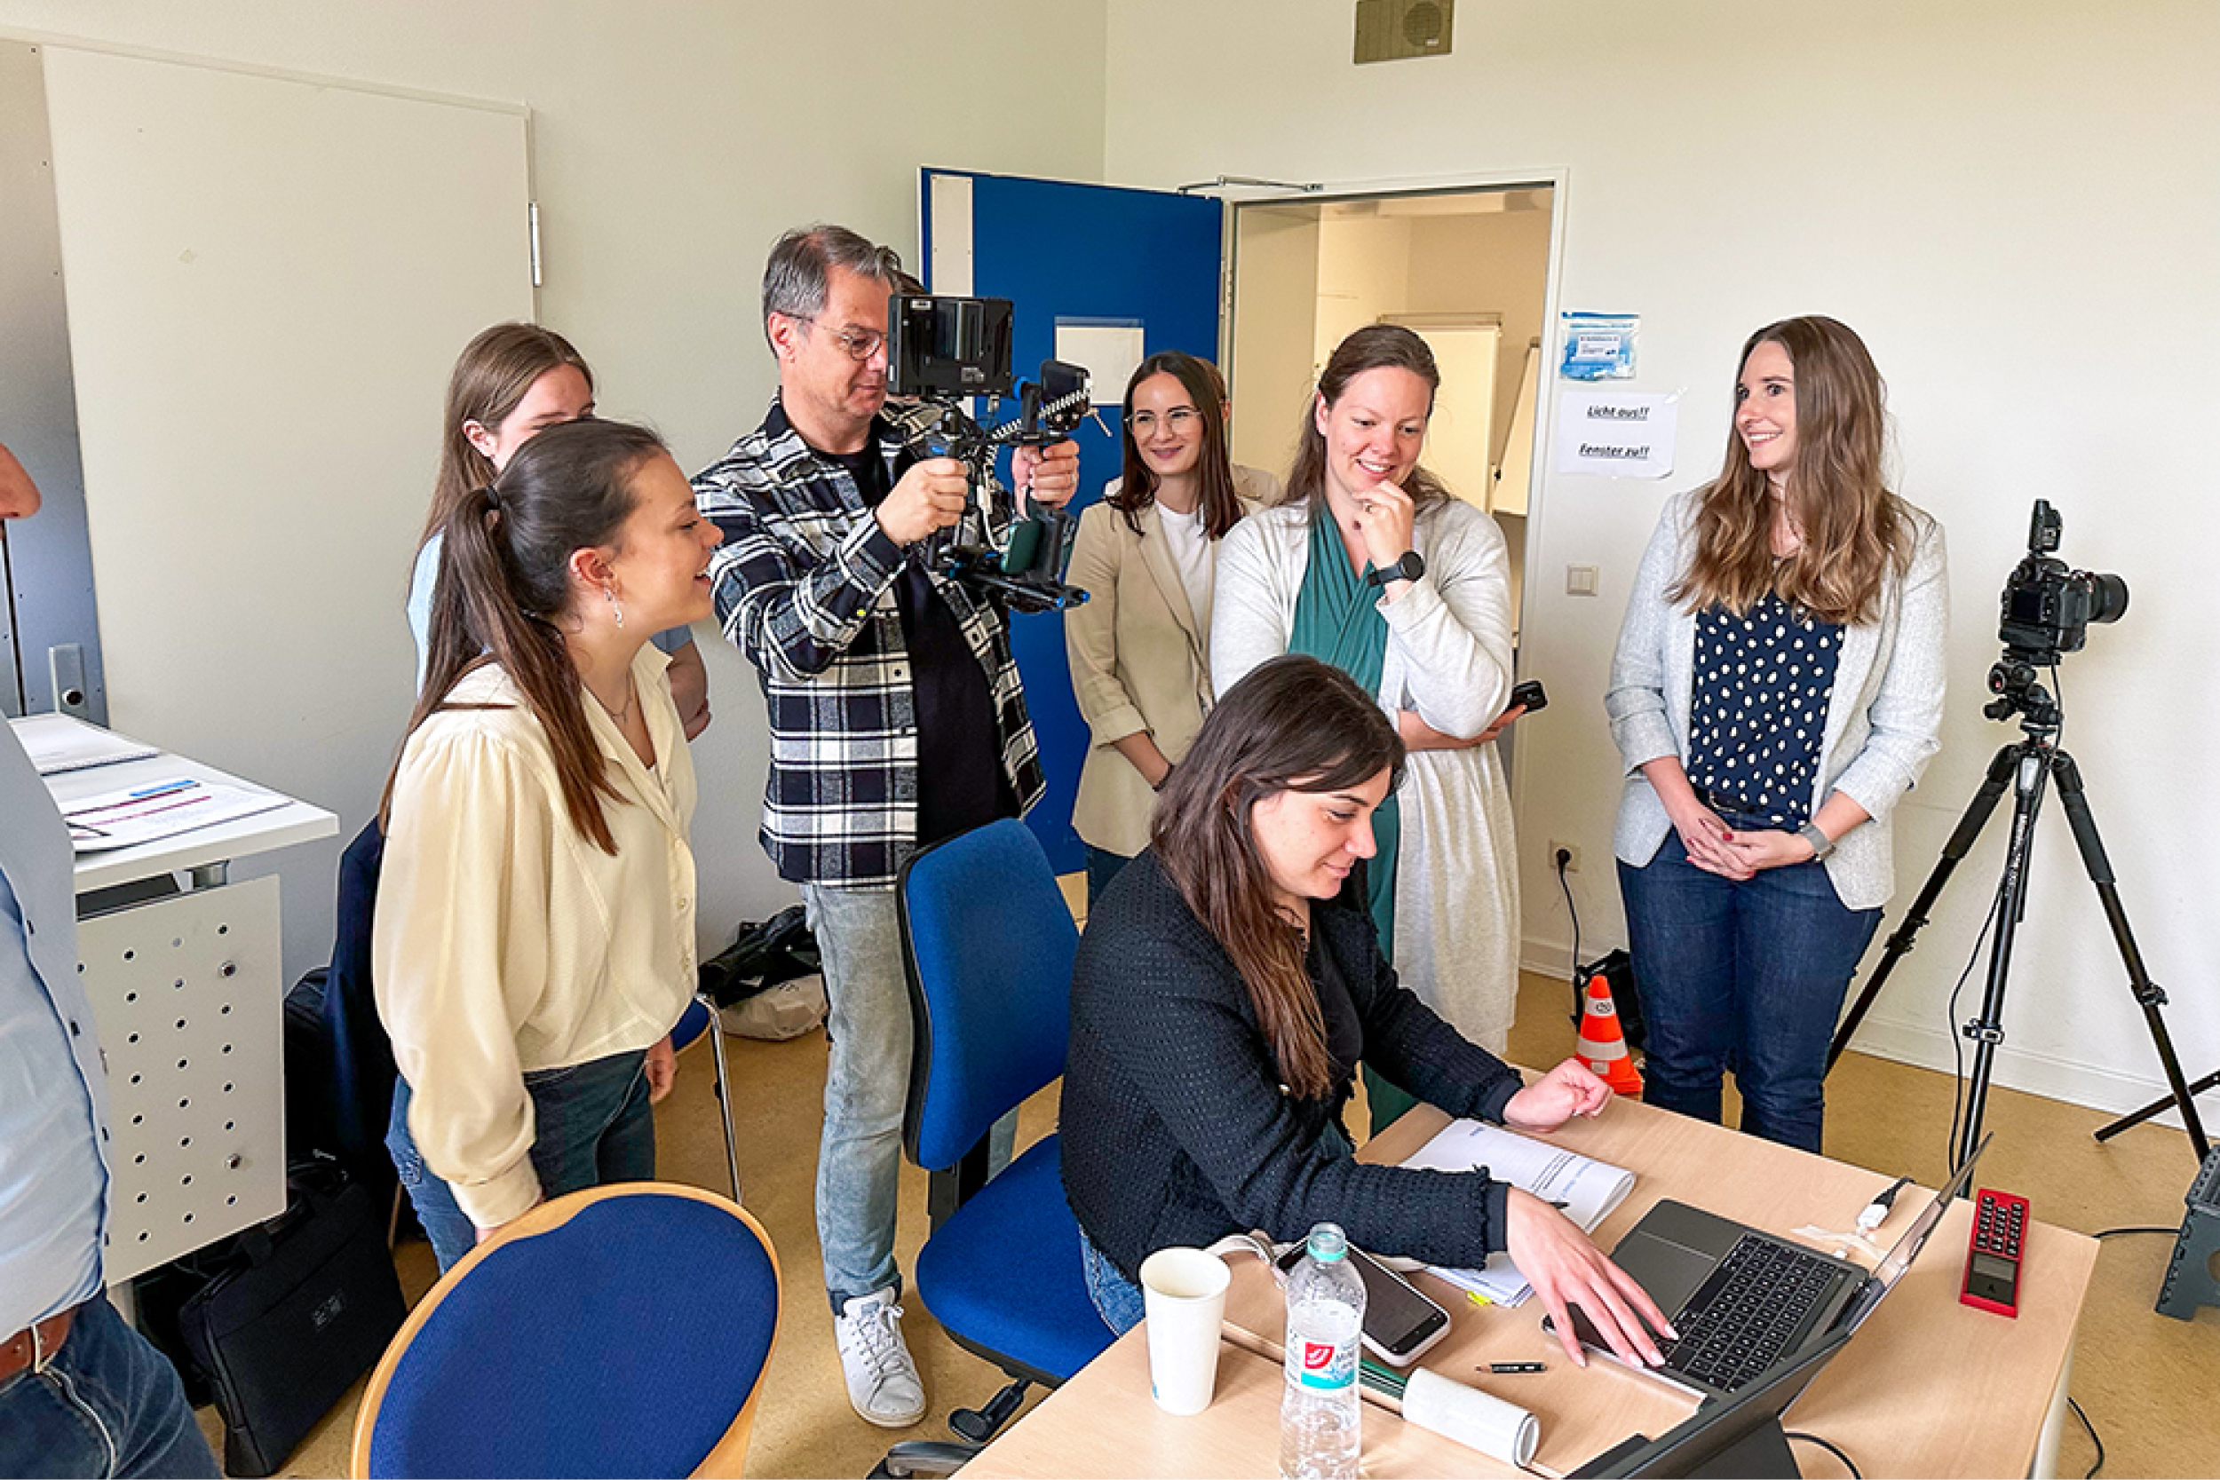
[[[1148,828],[1163,872],[1241,972],[1281,1078],[1305,1098],[1332,1089],[1325,1018],[1250,819],[1276,792],[1336,792],[1383,770],[1390,790],[1403,781],[1403,739],[1379,701],[1332,663],[1290,652],[1219,699]]]

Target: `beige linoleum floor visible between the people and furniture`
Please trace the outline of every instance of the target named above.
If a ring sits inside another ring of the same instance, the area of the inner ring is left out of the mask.
[[[1077,883],[1077,881],[1072,881]],[[1550,1065],[1572,1050],[1570,992],[1558,981],[1525,976],[1512,1058]],[[950,1438],[948,1409],[983,1402],[1001,1373],[955,1347],[912,1298],[904,1329],[926,1376],[930,1413],[904,1433],[875,1429],[848,1409],[833,1349],[833,1320],[817,1265],[813,1178],[817,1169],[824,1034],[793,1043],[733,1041],[744,1203],[770,1229],[786,1280],[786,1314],[766,1376],[748,1453],[750,1476],[866,1476],[899,1438]],[[2202,1072],[2202,1067],[2200,1067]],[[657,1156],[664,1178],[724,1189],[724,1141],[708,1047],[688,1050],[679,1083],[657,1109]],[[1026,1105],[1021,1143],[1054,1127],[1057,1092]],[[1949,1076],[1863,1054],[1845,1056],[1829,1081],[1827,1152],[1876,1172],[1911,1174],[1936,1185],[1945,1174],[1951,1107]],[[2211,1096],[2207,1116],[2220,1121]],[[2187,1136],[2145,1125],[2109,1145],[2091,1129],[2109,1116],[2011,1089],[1989,1098],[1996,1145],[1982,1183],[2022,1192],[2038,1218],[2080,1231],[2182,1220],[2182,1192],[2196,1174]],[[1354,1114],[1361,1125],[1363,1116]],[[926,1231],[926,1178],[904,1167],[901,1267],[910,1269]],[[2153,1314],[2171,1238],[2136,1234],[2107,1240],[2082,1311],[2073,1362],[2073,1396],[2105,1436],[2105,1473],[2220,1473],[2220,1309],[2193,1322]],[[397,1251],[411,1300],[433,1283],[431,1249]],[[355,1420],[351,1393],[302,1444],[284,1476],[344,1476]],[[213,1409],[202,1411],[211,1440]],[[2093,1462],[2089,1436],[2067,1420],[2060,1473],[2080,1476]]]

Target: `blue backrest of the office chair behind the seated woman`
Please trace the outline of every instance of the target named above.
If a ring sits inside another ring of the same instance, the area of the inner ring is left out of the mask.
[[[912,856],[897,890],[910,945],[910,1158],[952,1167],[1063,1074],[1079,927],[1057,870],[1003,819]]]

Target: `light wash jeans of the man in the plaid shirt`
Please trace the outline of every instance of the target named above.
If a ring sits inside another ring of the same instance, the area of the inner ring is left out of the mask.
[[[824,959],[833,1063],[826,1129],[817,1143],[817,1243],[833,1314],[855,1296],[901,1283],[895,1267],[895,1200],[901,1112],[910,1096],[910,985],[892,885],[801,885],[801,905]],[[1010,1165],[1012,1109],[988,1134],[988,1176]]]

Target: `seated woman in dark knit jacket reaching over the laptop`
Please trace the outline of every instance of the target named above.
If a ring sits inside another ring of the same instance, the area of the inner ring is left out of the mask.
[[[1350,1243],[1474,1267],[1507,1249],[1574,1362],[1567,1302],[1627,1360],[1669,1334],[1649,1296],[1561,1212],[1481,1172],[1365,1165],[1341,1112],[1374,1061],[1452,1116],[1550,1132],[1612,1092],[1576,1058],[1532,1085],[1412,996],[1356,863],[1403,779],[1374,695],[1314,657],[1228,690],[1157,799],[1150,845],[1088,912],[1072,967],[1063,1189],[1103,1320],[1141,1318],[1141,1260],[1319,1220]]]

